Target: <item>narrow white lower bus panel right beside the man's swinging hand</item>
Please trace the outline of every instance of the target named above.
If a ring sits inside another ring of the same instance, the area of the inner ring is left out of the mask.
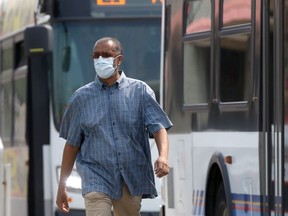
[[[192,214],[193,154],[191,134],[169,135],[170,172],[163,180],[165,196],[165,215]]]

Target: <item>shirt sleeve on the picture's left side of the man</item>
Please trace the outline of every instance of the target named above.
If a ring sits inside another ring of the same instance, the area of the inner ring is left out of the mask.
[[[64,112],[60,126],[60,137],[66,139],[72,146],[80,146],[83,138],[83,131],[80,127],[79,111],[70,100],[68,107]]]

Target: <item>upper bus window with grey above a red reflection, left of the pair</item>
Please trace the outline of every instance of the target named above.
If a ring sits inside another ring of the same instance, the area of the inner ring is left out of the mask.
[[[211,31],[211,1],[189,1],[186,4],[186,34]]]

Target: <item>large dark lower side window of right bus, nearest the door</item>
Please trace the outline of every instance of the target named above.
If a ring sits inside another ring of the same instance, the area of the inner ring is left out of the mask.
[[[220,100],[248,101],[251,82],[251,46],[249,35],[220,39]]]

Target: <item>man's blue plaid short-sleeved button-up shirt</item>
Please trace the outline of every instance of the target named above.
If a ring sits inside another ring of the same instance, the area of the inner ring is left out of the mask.
[[[113,86],[96,78],[78,89],[60,137],[80,147],[76,167],[83,195],[94,191],[119,199],[124,180],[133,196],[157,196],[148,133],[171,126],[153,90],[124,72]]]

